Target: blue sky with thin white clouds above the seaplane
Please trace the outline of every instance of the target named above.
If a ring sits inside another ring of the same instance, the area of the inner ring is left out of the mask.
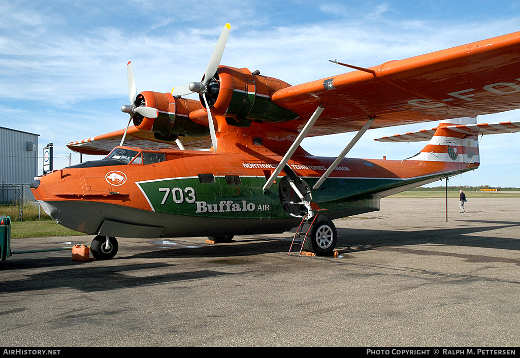
[[[520,30],[520,0],[2,0],[0,13],[0,126],[40,134],[39,156],[54,143],[55,169],[80,160],[66,143],[126,125],[120,107],[129,104],[128,61],[138,92],[198,81],[226,22],[222,65],[259,69],[292,85],[347,71],[329,59],[371,67]],[[478,118],[515,120],[520,110]],[[347,157],[404,159],[425,142],[373,139],[436,124],[369,130]],[[306,138],[302,146],[337,156],[354,135]],[[520,187],[519,141],[520,133],[484,136],[480,168],[449,184]],[[91,159],[100,157],[83,156]]]

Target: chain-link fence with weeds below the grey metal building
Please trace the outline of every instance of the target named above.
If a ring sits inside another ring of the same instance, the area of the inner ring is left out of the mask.
[[[48,220],[29,184],[0,184],[0,215],[12,221]]]

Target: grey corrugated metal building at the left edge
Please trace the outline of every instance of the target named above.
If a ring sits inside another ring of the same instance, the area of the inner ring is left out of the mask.
[[[30,184],[38,174],[40,134],[0,127],[0,185]]]

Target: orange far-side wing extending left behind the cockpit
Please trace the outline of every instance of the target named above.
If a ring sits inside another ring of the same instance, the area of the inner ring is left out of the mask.
[[[107,155],[114,147],[119,146],[125,130],[97,135],[92,138],[67,144],[70,150],[81,154]],[[211,147],[209,137],[180,137],[181,142],[189,149],[207,149]],[[135,126],[128,127],[124,145],[150,149],[178,149],[175,142],[155,139],[153,133],[139,131]]]

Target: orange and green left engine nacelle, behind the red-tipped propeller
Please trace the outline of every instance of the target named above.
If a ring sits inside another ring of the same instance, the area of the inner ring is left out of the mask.
[[[158,134],[161,140],[172,138],[176,135],[199,137],[209,135],[207,125],[195,123],[189,119],[189,113],[201,109],[197,100],[175,98],[171,93],[159,93],[144,91],[137,95],[136,106],[157,108],[159,117],[147,118],[139,114],[133,117],[134,125],[140,131]]]

